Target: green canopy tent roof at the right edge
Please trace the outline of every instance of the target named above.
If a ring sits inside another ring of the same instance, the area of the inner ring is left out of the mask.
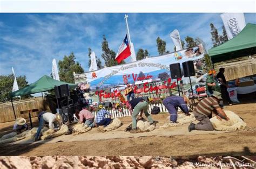
[[[211,48],[209,55],[213,63],[246,57],[256,53],[256,25],[248,23],[233,39]]]

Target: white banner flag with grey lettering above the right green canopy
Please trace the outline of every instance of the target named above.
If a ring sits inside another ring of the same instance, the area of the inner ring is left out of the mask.
[[[228,40],[237,36],[245,27],[244,13],[223,13],[220,17],[223,20]]]

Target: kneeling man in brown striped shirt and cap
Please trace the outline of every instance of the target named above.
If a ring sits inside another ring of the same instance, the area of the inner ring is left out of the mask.
[[[226,121],[229,120],[223,109],[220,108],[219,100],[221,100],[221,93],[218,91],[213,91],[210,97],[206,97],[201,100],[193,111],[194,117],[199,121],[199,123],[190,123],[188,126],[188,131],[191,130],[207,130],[212,131],[213,126],[210,121],[212,112],[216,114],[217,118],[221,120],[224,118]]]

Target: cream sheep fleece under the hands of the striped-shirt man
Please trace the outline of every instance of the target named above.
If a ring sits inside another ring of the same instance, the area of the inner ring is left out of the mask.
[[[235,131],[235,130],[243,130],[246,127],[246,123],[242,121],[242,119],[236,115],[234,112],[225,110],[225,114],[230,120],[226,121],[225,119],[221,119],[221,121],[216,117],[212,117],[210,119],[213,128],[219,131]]]

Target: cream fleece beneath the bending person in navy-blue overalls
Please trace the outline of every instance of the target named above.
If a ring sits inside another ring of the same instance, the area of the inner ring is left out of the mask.
[[[193,121],[196,121],[196,118],[194,118],[194,114],[190,114],[190,116],[186,116],[184,113],[179,113],[177,118],[177,123],[171,123],[170,122],[170,116],[166,118],[166,122],[164,125],[159,126],[160,129],[166,129],[173,126],[180,126],[186,123],[191,123]]]

